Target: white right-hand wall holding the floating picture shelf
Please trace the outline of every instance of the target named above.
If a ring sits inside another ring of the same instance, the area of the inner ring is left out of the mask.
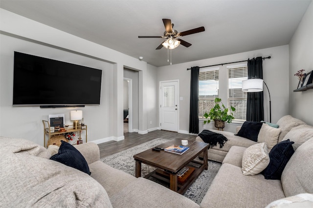
[[[305,73],[313,70],[313,2],[291,38],[289,56],[290,114],[313,125],[313,89],[293,92],[299,82],[294,74],[301,69],[304,69]]]

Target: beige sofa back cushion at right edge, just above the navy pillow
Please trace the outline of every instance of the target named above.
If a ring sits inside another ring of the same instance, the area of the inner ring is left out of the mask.
[[[313,138],[313,126],[300,125],[294,127],[288,132],[283,140],[290,139],[294,142],[293,149],[296,150],[300,145]]]

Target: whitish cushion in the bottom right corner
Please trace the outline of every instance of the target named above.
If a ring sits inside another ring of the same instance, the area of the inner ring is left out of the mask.
[[[278,199],[266,208],[313,208],[313,194],[300,193],[295,196]]]

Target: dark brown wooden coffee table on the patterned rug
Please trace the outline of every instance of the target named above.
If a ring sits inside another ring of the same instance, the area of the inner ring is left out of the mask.
[[[181,139],[173,139],[164,144],[158,145],[160,148],[167,148],[171,145],[181,145]],[[141,163],[153,166],[156,168],[153,172],[145,176],[150,176],[161,179],[170,184],[170,189],[183,194],[188,187],[197,179],[200,173],[205,169],[207,170],[207,148],[209,144],[197,141],[188,141],[189,150],[183,154],[175,154],[167,151],[152,151],[149,149],[141,153],[135,154],[134,159],[136,162],[135,176],[141,177]],[[195,161],[194,159],[203,152],[203,162]],[[184,181],[184,183],[178,183],[179,170],[185,166],[192,166],[195,170]],[[157,174],[160,170],[165,174]],[[166,177],[169,175],[169,177]]]

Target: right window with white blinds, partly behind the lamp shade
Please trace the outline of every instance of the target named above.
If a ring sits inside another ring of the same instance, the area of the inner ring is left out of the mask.
[[[247,93],[242,91],[242,81],[248,78],[246,64],[227,67],[227,76],[227,107],[235,107],[234,120],[245,121]]]

